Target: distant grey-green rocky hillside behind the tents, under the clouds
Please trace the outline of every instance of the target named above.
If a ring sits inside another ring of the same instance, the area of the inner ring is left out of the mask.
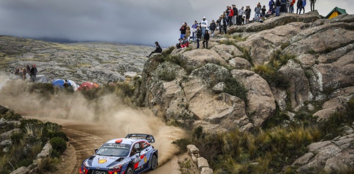
[[[35,64],[38,74],[50,80],[107,83],[141,72],[147,60],[145,55],[153,49],[116,43],[61,44],[0,36],[0,70],[8,74],[17,67]]]

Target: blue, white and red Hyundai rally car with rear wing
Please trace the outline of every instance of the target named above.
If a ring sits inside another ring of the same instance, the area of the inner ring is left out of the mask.
[[[83,160],[81,174],[138,174],[157,167],[155,139],[147,134],[128,134],[103,144]]]

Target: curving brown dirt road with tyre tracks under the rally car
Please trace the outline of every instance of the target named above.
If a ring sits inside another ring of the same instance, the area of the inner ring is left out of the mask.
[[[69,137],[68,149],[62,156],[62,161],[58,164],[57,171],[61,174],[76,174],[78,167],[81,165],[83,159],[89,157],[95,152],[95,148],[112,138],[117,137],[114,128],[105,127],[104,125],[87,124],[79,121],[54,119],[54,118],[38,118],[38,117],[25,117],[26,119],[38,119],[42,121],[50,121],[58,123],[63,126],[63,131]],[[156,140],[159,141],[159,140]],[[160,151],[160,149],[159,149]],[[161,150],[162,151],[162,150]],[[163,152],[163,151],[162,151]],[[163,155],[159,153],[159,156]],[[160,165],[156,170],[147,173],[165,173],[175,174],[181,173],[179,171],[178,156],[173,156],[167,162]],[[65,171],[65,172],[63,172]],[[54,172],[56,173],[56,172]],[[52,172],[53,174],[53,172]]]

